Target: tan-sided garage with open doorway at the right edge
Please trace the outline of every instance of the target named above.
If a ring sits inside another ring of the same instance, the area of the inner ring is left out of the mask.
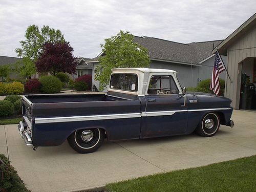
[[[256,13],[213,51],[227,57],[225,96],[234,109],[256,109]]]

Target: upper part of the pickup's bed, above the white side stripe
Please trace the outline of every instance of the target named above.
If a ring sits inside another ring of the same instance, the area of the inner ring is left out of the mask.
[[[126,99],[108,94],[25,95],[23,100],[24,114],[35,118],[140,112],[138,96]]]

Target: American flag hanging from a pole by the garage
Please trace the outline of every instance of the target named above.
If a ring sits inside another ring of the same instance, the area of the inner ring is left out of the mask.
[[[213,90],[216,95],[220,95],[220,78],[219,73],[225,71],[224,63],[221,60],[220,54],[217,51],[215,54],[214,69],[212,70],[210,90]]]

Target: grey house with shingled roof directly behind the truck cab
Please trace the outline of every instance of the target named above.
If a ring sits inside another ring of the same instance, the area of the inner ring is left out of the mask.
[[[151,59],[150,68],[178,71],[177,76],[182,87],[197,87],[201,80],[211,77],[215,60],[211,51],[223,40],[181,44],[155,37],[134,36],[134,41],[147,48],[148,56]],[[86,61],[93,65],[92,84],[95,84],[97,88],[100,84],[94,79],[94,71],[99,65],[98,58],[100,56],[104,56],[104,53],[101,52],[98,57]],[[225,63],[226,56],[223,56],[222,60]],[[225,73],[220,74],[222,79],[225,79],[225,76]]]

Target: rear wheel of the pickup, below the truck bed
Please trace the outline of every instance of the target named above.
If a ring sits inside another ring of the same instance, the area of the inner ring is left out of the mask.
[[[92,153],[104,141],[104,131],[98,128],[77,130],[68,137],[69,145],[78,153]]]

